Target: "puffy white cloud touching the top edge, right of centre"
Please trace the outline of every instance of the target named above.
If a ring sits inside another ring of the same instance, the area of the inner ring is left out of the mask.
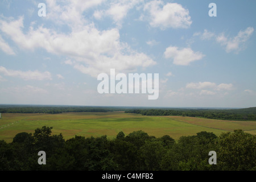
[[[150,26],[160,27],[161,30],[166,28],[188,28],[192,24],[189,11],[184,9],[178,3],[167,3],[163,1],[150,1],[144,6],[144,11],[149,14],[142,15],[143,19],[150,20]]]

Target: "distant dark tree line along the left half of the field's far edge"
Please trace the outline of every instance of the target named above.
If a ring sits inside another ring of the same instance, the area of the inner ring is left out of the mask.
[[[80,113],[80,112],[108,112],[117,111],[118,109],[112,108],[101,108],[101,107],[46,107],[46,106],[35,106],[35,107],[9,107],[0,108],[0,113],[44,113],[44,114],[59,114],[59,113]]]

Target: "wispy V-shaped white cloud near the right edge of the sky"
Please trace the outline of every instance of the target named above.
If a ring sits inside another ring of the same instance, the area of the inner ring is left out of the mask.
[[[237,36],[228,39],[222,33],[217,36],[216,41],[225,47],[226,52],[239,52],[245,47],[245,42],[249,40],[250,36],[253,34],[254,28],[247,27],[246,30],[241,30],[238,32]]]

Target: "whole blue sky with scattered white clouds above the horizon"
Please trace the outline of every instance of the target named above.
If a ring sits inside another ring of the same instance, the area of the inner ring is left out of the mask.
[[[217,16],[208,7],[216,3]],[[45,3],[46,16],[38,16]],[[0,104],[253,107],[255,1],[0,1]],[[159,73],[159,98],[99,94]]]

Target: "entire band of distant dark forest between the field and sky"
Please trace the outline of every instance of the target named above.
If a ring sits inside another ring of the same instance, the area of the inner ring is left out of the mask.
[[[256,107],[245,109],[155,109],[144,107],[100,107],[100,106],[21,106],[0,105],[0,113],[79,113],[125,111],[142,115],[182,115],[188,117],[203,117],[210,119],[228,119],[241,121],[256,121]]]

